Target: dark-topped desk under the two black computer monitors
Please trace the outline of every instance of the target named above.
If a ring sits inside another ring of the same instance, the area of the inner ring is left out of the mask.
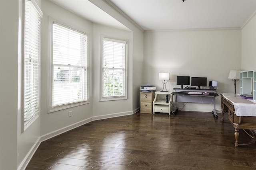
[[[174,88],[175,92],[172,92],[175,95],[175,105],[173,114],[178,111],[177,102],[186,102],[186,103],[213,103],[212,113],[216,118],[218,115],[215,109],[215,98],[219,96],[216,93],[216,89],[180,89]],[[188,94],[188,92],[209,92],[209,94]]]

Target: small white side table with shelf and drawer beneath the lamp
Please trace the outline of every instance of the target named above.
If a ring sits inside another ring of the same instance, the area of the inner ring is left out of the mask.
[[[173,96],[172,92],[155,92],[155,99],[153,101],[153,113],[168,113],[171,114],[173,110]],[[168,96],[168,102],[166,102],[166,95]]]

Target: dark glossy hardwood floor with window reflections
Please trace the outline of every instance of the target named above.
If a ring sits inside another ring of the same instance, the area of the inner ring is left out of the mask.
[[[26,170],[256,170],[255,143],[235,147],[234,127],[218,116],[179,111],[93,121],[42,142]]]

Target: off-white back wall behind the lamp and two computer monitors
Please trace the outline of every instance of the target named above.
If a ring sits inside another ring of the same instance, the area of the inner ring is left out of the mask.
[[[207,77],[218,80],[218,94],[234,93],[230,70],[241,67],[241,30],[147,31],[144,33],[144,84],[162,90],[159,72],[170,72],[167,89],[172,91],[176,76]],[[238,85],[237,85],[238,88]],[[216,99],[220,109],[220,96]],[[212,111],[209,104],[186,104],[184,110]]]

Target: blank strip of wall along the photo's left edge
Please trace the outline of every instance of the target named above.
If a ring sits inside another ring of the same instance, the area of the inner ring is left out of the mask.
[[[0,1],[0,169],[17,168],[19,8],[18,0]]]

